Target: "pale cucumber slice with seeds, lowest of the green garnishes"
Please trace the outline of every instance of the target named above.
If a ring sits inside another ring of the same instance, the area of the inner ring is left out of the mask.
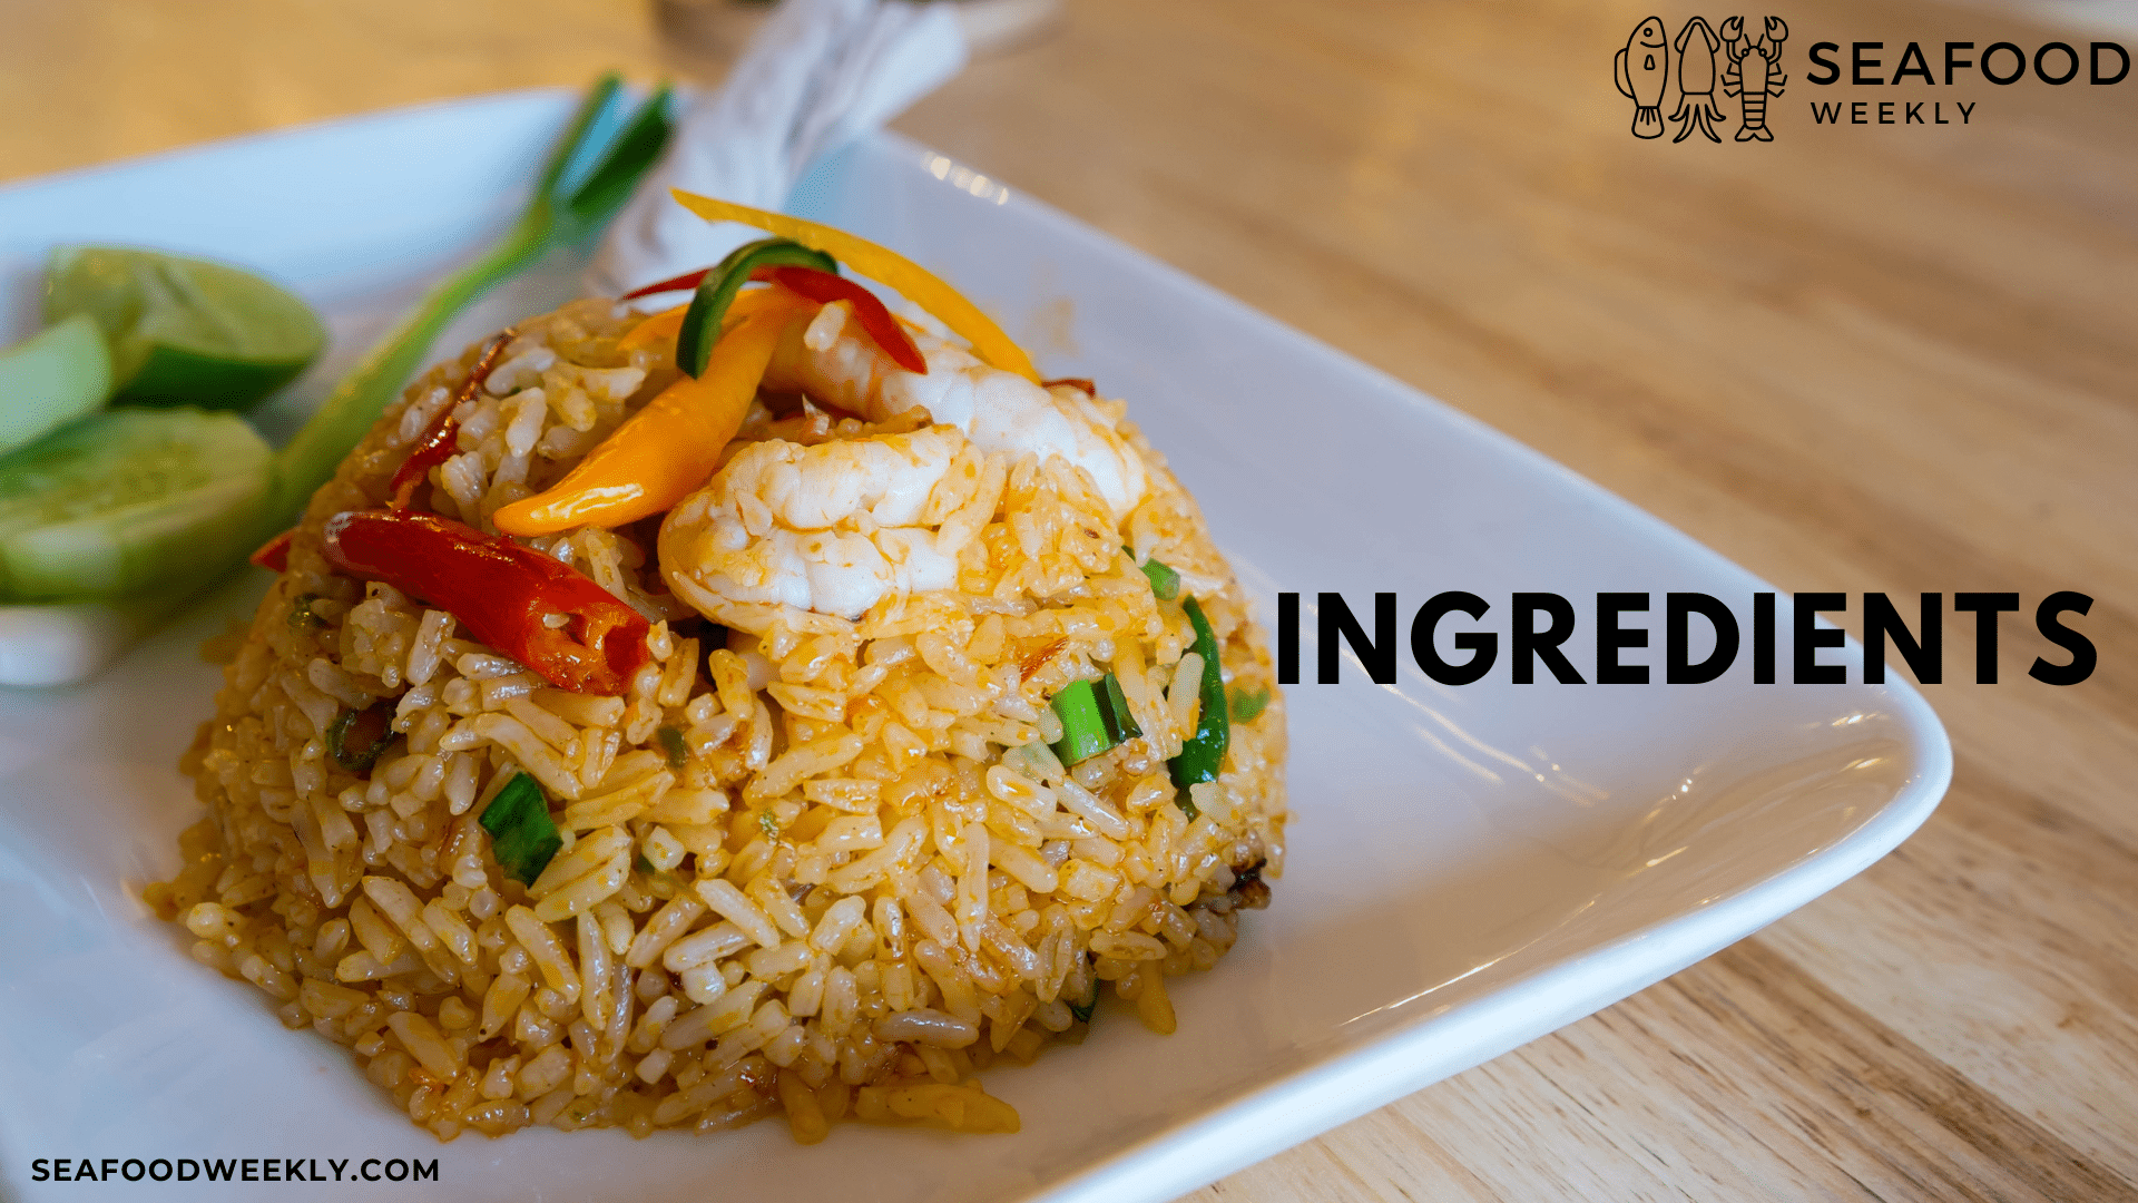
[[[272,452],[229,413],[113,409],[0,456],[0,599],[205,584],[250,550]]]

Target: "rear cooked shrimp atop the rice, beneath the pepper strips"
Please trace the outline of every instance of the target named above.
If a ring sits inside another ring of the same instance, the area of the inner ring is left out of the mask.
[[[845,304],[827,304],[800,340],[783,340],[765,387],[806,392],[870,422],[924,405],[981,452],[1060,456],[1090,475],[1116,520],[1144,499],[1144,460],[1099,402],[1067,387],[1043,390],[930,334],[913,332],[913,342],[928,360],[928,375],[894,364]]]

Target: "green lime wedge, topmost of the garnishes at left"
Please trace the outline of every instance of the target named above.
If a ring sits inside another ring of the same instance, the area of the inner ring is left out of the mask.
[[[111,340],[113,400],[244,409],[327,345],[319,315],[237,268],[118,246],[62,246],[45,321],[90,315]]]

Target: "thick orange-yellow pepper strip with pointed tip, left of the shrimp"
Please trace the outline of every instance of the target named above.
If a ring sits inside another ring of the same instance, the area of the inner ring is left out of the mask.
[[[740,304],[746,298],[750,304]],[[507,535],[554,535],[573,527],[614,529],[673,509],[706,484],[721,450],[742,428],[757,383],[793,317],[817,306],[780,289],[735,298],[706,375],[682,377],[545,492],[492,516]]]

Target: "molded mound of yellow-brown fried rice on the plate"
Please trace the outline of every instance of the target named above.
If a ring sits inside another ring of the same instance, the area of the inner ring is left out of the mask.
[[[676,379],[673,345],[618,349],[639,321],[586,300],[522,323],[415,507],[494,531],[562,477]],[[1283,869],[1285,704],[1202,514],[1133,426],[1152,486],[1125,522],[1058,458],[1003,462],[958,589],[851,623],[787,612],[706,646],[721,629],[663,584],[656,522],[530,539],[656,619],[652,661],[597,698],[323,559],[323,522],[387,501],[477,353],[410,385],[312,499],[224,668],[182,764],[210,813],[148,888],[199,961],[351,1047],[447,1141],[765,1115],[804,1143],[842,1117],[1016,1130],[977,1072],[1082,1040],[1071,1008],[1101,983],[1174,1030],[1165,978],[1214,965]],[[885,428],[759,405],[744,439]],[[1193,820],[1165,766],[1195,730],[1195,674],[1174,681],[1193,629],[1146,557],[1202,604],[1234,696],[1270,698]],[[1103,672],[1146,734],[1065,771],[1048,698]],[[402,738],[342,771],[327,730],[374,704]],[[567,839],[532,886],[477,824],[520,771]]]

